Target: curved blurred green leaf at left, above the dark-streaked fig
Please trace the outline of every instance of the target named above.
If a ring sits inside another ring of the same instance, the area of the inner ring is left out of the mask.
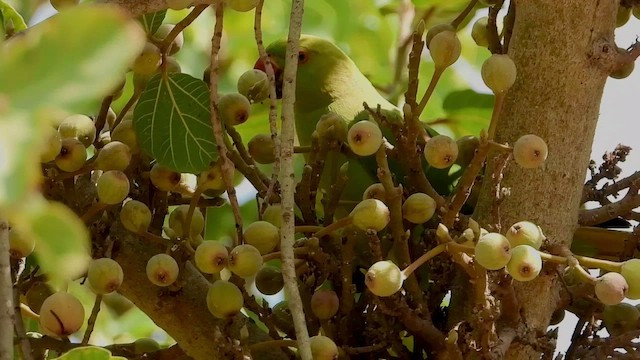
[[[81,276],[91,260],[89,232],[67,206],[31,198],[13,219],[21,232],[36,240],[38,264],[55,284]]]

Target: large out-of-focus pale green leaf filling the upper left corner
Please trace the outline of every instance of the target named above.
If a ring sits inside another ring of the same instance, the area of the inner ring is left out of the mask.
[[[142,28],[118,8],[69,8],[4,42],[0,94],[17,109],[80,111],[117,85],[145,41]]]

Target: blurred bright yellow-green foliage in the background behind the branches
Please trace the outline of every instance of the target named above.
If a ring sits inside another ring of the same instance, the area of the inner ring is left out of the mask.
[[[7,2],[22,14],[30,26],[55,14],[48,0]],[[289,0],[265,0],[262,17],[265,45],[275,39],[286,37],[290,3]],[[425,21],[427,29],[439,23],[449,22],[467,3],[467,0],[310,0],[305,5],[303,33],[332,39],[387,98],[401,105],[406,90],[407,70],[403,65],[399,68],[401,71],[396,71],[398,47],[407,40],[406,36],[420,19]],[[491,95],[470,90],[479,88],[479,68],[490,55],[487,49],[476,46],[471,39],[470,26],[467,25],[474,18],[475,10],[481,10],[481,7],[478,6],[471,12],[459,31],[462,57],[454,67],[445,72],[422,116],[423,121],[432,123],[438,131],[454,137],[477,135],[480,129],[488,124],[493,106]],[[164,23],[175,24],[188,13],[189,10],[169,10]],[[475,15],[476,18],[478,16]],[[253,32],[254,11],[238,13],[229,10],[225,12],[224,17],[219,82],[219,90],[222,93],[235,92],[238,77],[252,68],[258,58]],[[213,12],[207,10],[186,29],[184,47],[176,55],[184,73],[202,77],[209,63],[213,23]],[[428,51],[424,52],[423,60],[418,94],[424,93],[433,73]],[[398,77],[396,73],[401,75]],[[475,80],[473,74],[476,76]],[[127,76],[127,80],[123,96],[113,104],[116,112],[124,106],[133,91],[131,74]],[[484,85],[480,85],[482,86]],[[96,99],[96,112],[99,103],[100,99]],[[245,142],[256,134],[269,132],[267,111],[266,102],[253,105],[249,121],[237,127]],[[298,169],[302,165],[303,158],[300,156]],[[262,166],[262,170],[271,174],[271,166]],[[243,203],[242,215],[245,224],[256,220],[257,207],[251,186],[241,183],[239,195]],[[233,215],[230,208],[209,208],[205,237],[221,239],[233,236],[233,233]],[[94,302],[91,291],[86,286],[78,284],[72,285],[71,291],[78,295],[89,311]],[[92,343],[105,345],[131,342],[141,337],[152,337],[163,345],[173,342],[166,333],[121,296],[107,296],[105,305],[98,316]],[[28,322],[27,326],[28,330],[37,331],[37,322]]]

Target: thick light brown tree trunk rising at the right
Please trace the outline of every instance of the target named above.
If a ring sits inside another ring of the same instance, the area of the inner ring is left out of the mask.
[[[570,245],[607,69],[615,54],[618,2],[514,1],[508,53],[518,76],[502,109],[496,140],[513,144],[522,135],[536,134],[547,142],[549,157],[540,169],[522,169],[515,163],[506,169],[502,186],[511,194],[500,206],[500,221],[503,231],[517,221],[533,221],[550,243]],[[493,166],[490,160],[487,174]],[[487,177],[476,209],[483,226],[495,222],[493,197]],[[543,270],[538,279],[514,282],[514,287],[523,307],[525,337],[535,339],[546,332],[559,300],[556,273]],[[507,353],[509,359],[539,357],[518,339]]]

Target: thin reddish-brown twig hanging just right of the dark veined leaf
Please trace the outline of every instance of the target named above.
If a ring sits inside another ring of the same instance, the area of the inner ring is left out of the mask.
[[[220,51],[220,42],[222,40],[222,22],[224,13],[224,4],[219,2],[215,7],[216,12],[216,24],[211,38],[211,76],[210,86],[211,89],[211,123],[213,124],[213,134],[216,140],[218,155],[221,159],[222,179],[227,187],[227,196],[229,197],[229,203],[231,204],[231,210],[233,211],[233,217],[236,224],[236,234],[238,235],[238,242],[242,241],[242,216],[240,215],[240,205],[238,204],[238,197],[236,195],[236,189],[233,186],[233,173],[234,164],[227,156],[227,146],[224,142],[224,132],[222,120],[219,116],[218,109],[218,70],[220,68],[220,62],[218,60],[218,53]]]

